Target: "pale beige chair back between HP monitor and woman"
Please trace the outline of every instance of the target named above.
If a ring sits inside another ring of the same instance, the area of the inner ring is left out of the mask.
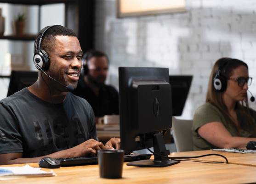
[[[172,117],[171,129],[177,152],[193,151],[193,140],[191,130],[192,122],[193,120],[183,120]]]

